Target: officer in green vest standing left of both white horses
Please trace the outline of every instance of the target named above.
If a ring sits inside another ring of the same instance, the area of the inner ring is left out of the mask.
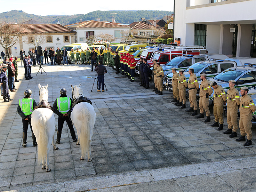
[[[22,118],[22,125],[23,125],[23,147],[27,147],[27,132],[28,132],[28,124],[30,125],[30,129],[32,132],[32,140],[33,140],[33,146],[36,147],[36,136],[33,133],[32,126],[31,126],[31,114],[36,107],[36,101],[30,98],[30,95],[32,94],[30,89],[26,89],[24,91],[25,97],[23,99],[19,100],[19,105],[17,107],[17,113]]]

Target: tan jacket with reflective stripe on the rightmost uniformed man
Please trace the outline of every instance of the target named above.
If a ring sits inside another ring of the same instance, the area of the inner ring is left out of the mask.
[[[240,97],[239,111],[240,116],[252,119],[252,112],[256,111],[256,107],[250,95],[246,94]]]

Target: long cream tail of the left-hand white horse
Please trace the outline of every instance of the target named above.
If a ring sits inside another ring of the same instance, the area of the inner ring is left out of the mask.
[[[38,163],[47,155],[48,150],[48,132],[46,130],[46,117],[40,116],[38,119],[39,138],[36,138],[38,144]]]

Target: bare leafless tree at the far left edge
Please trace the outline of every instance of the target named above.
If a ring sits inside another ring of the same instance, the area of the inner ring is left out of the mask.
[[[0,22],[0,44],[10,58],[9,48],[19,41],[23,27],[19,24],[7,24]]]

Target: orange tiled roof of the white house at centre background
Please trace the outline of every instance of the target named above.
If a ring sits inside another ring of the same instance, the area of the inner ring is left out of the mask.
[[[126,25],[119,25],[116,23],[110,23],[110,22],[103,22],[103,21],[84,21],[82,23],[77,23],[77,24],[71,24],[71,25],[66,25],[67,27],[72,27],[72,28],[120,28],[120,27],[127,27]]]

